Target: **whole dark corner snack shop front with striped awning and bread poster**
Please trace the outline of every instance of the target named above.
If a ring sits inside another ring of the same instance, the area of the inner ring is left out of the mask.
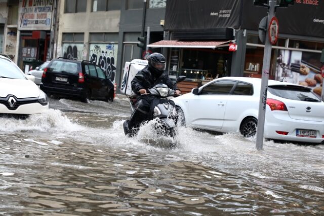
[[[307,78],[314,80],[322,65],[320,55],[324,48],[322,11],[324,2],[310,4],[309,1],[296,1],[288,9],[277,9],[280,38],[272,47],[269,79],[304,85]],[[266,8],[253,6],[253,1],[248,0],[220,0],[217,4],[212,0],[169,1],[165,30],[170,32],[173,42],[161,41],[149,46],[169,47],[170,75],[186,75],[187,81],[197,82],[198,86],[206,79],[224,76],[261,78],[264,45],[257,30],[266,15]],[[229,52],[231,41],[237,44],[239,52]],[[214,48],[170,45],[180,42],[220,44]],[[307,85],[318,87],[320,84],[314,85],[313,80],[307,80],[312,82]]]

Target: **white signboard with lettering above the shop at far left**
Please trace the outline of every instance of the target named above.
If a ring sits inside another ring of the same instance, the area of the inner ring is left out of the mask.
[[[53,0],[19,1],[19,30],[51,30]]]

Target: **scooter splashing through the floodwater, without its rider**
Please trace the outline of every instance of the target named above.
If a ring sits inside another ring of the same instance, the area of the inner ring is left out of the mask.
[[[135,76],[138,80],[144,81],[143,75]],[[186,76],[179,76],[176,80],[177,83],[182,82],[186,79]],[[147,81],[146,81],[147,82]],[[176,135],[176,125],[178,121],[178,115],[176,105],[172,98],[174,98],[175,90],[170,89],[165,84],[157,84],[153,88],[148,89],[146,95],[155,97],[152,103],[154,103],[154,112],[148,119],[155,119],[156,124],[154,125],[155,131],[159,135],[174,137]],[[143,96],[143,95],[141,95]],[[131,113],[133,114],[136,109],[137,96],[129,97]],[[123,124],[125,135],[134,136],[137,134],[139,128],[129,128],[129,120],[126,120]]]

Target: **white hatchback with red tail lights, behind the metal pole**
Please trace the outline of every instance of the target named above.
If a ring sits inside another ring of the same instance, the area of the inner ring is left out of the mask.
[[[261,79],[224,77],[174,98],[187,126],[256,134]],[[264,138],[324,142],[324,102],[310,88],[268,82]]]

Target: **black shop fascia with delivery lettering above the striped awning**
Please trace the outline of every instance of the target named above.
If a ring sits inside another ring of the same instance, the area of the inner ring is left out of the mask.
[[[168,1],[164,27],[165,30],[238,28],[240,8],[240,0]]]

